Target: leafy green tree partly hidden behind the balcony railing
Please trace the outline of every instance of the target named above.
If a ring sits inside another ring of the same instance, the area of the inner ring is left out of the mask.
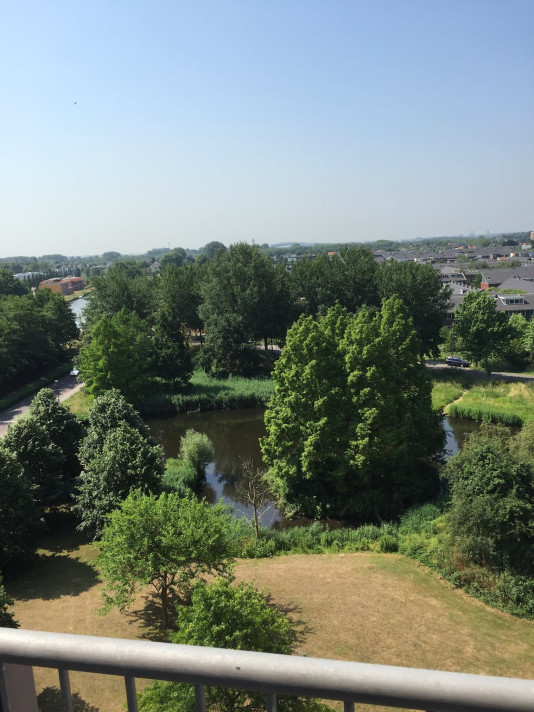
[[[233,650],[250,650],[289,655],[294,646],[292,625],[268,598],[249,583],[233,585],[228,579],[218,579],[210,585],[197,583],[191,606],[177,612],[177,632],[171,642],[182,645],[202,645]],[[248,710],[265,709],[265,695],[245,690],[207,687],[207,708]],[[284,712],[326,710],[313,700],[277,698]],[[194,689],[191,685],[154,682],[139,696],[140,712],[193,712]]]

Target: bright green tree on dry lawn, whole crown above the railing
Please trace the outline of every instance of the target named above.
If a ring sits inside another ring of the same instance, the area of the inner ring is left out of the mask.
[[[165,628],[171,598],[188,602],[193,581],[231,570],[235,520],[221,504],[193,496],[131,493],[105,527],[99,569],[106,579],[104,610],[121,610],[140,585],[151,584]]]

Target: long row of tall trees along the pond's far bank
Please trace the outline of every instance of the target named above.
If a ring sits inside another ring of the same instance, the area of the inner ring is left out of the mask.
[[[205,336],[198,363],[207,372],[252,374],[255,344],[283,343],[299,315],[318,316],[335,304],[350,313],[379,309],[394,294],[409,310],[421,354],[436,352],[449,290],[429,265],[377,264],[364,247],[302,260],[291,272],[244,243],[210,243],[194,263],[182,253],[167,252],[158,273],[120,260],[94,280],[79,358],[90,392],[113,386],[132,401],[154,378],[183,386],[191,374],[186,337],[194,335]]]

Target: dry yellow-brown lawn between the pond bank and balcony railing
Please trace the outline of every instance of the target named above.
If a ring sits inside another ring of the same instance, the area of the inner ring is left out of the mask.
[[[144,597],[100,617],[95,547],[75,534],[50,537],[33,569],[8,586],[22,627],[111,637],[149,637]],[[294,555],[241,561],[239,580],[265,588],[299,622],[298,653],[361,662],[534,678],[534,622],[470,599],[396,554]],[[78,709],[123,712],[120,678],[72,673]],[[39,670],[38,689],[57,688]],[[138,688],[143,686],[138,681]],[[47,696],[57,702],[57,691]],[[85,703],[85,705],[84,705]],[[52,712],[57,704],[42,704]],[[358,707],[359,711],[383,710]]]

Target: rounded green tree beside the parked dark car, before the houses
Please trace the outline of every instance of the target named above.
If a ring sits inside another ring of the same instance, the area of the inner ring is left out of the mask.
[[[497,311],[495,299],[487,292],[468,292],[454,314],[452,325],[462,341],[462,350],[475,361],[484,362],[502,352],[510,339],[504,312]]]

